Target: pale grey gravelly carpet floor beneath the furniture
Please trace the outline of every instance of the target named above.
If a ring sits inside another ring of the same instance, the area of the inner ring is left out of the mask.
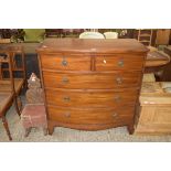
[[[19,116],[14,107],[7,114],[13,142],[170,142],[171,136],[130,136],[126,127],[118,127],[99,131],[83,131],[68,128],[55,128],[52,136],[44,136],[41,128],[33,128],[29,137],[24,138]],[[2,121],[0,120],[0,141],[9,141]]]

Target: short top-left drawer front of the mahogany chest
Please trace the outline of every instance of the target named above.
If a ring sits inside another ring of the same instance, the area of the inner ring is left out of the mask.
[[[42,68],[57,71],[89,71],[90,56],[85,55],[42,55]]]

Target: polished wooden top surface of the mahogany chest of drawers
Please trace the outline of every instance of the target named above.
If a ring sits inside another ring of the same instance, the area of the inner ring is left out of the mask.
[[[38,52],[146,53],[148,49],[133,39],[47,39]]]

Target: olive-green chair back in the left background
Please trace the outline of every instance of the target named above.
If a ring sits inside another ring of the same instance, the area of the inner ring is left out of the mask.
[[[23,29],[24,42],[42,42],[45,38],[45,29]]]

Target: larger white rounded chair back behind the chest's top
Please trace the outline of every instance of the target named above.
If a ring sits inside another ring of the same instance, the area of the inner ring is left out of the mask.
[[[84,32],[79,34],[79,39],[105,39],[99,32]]]

